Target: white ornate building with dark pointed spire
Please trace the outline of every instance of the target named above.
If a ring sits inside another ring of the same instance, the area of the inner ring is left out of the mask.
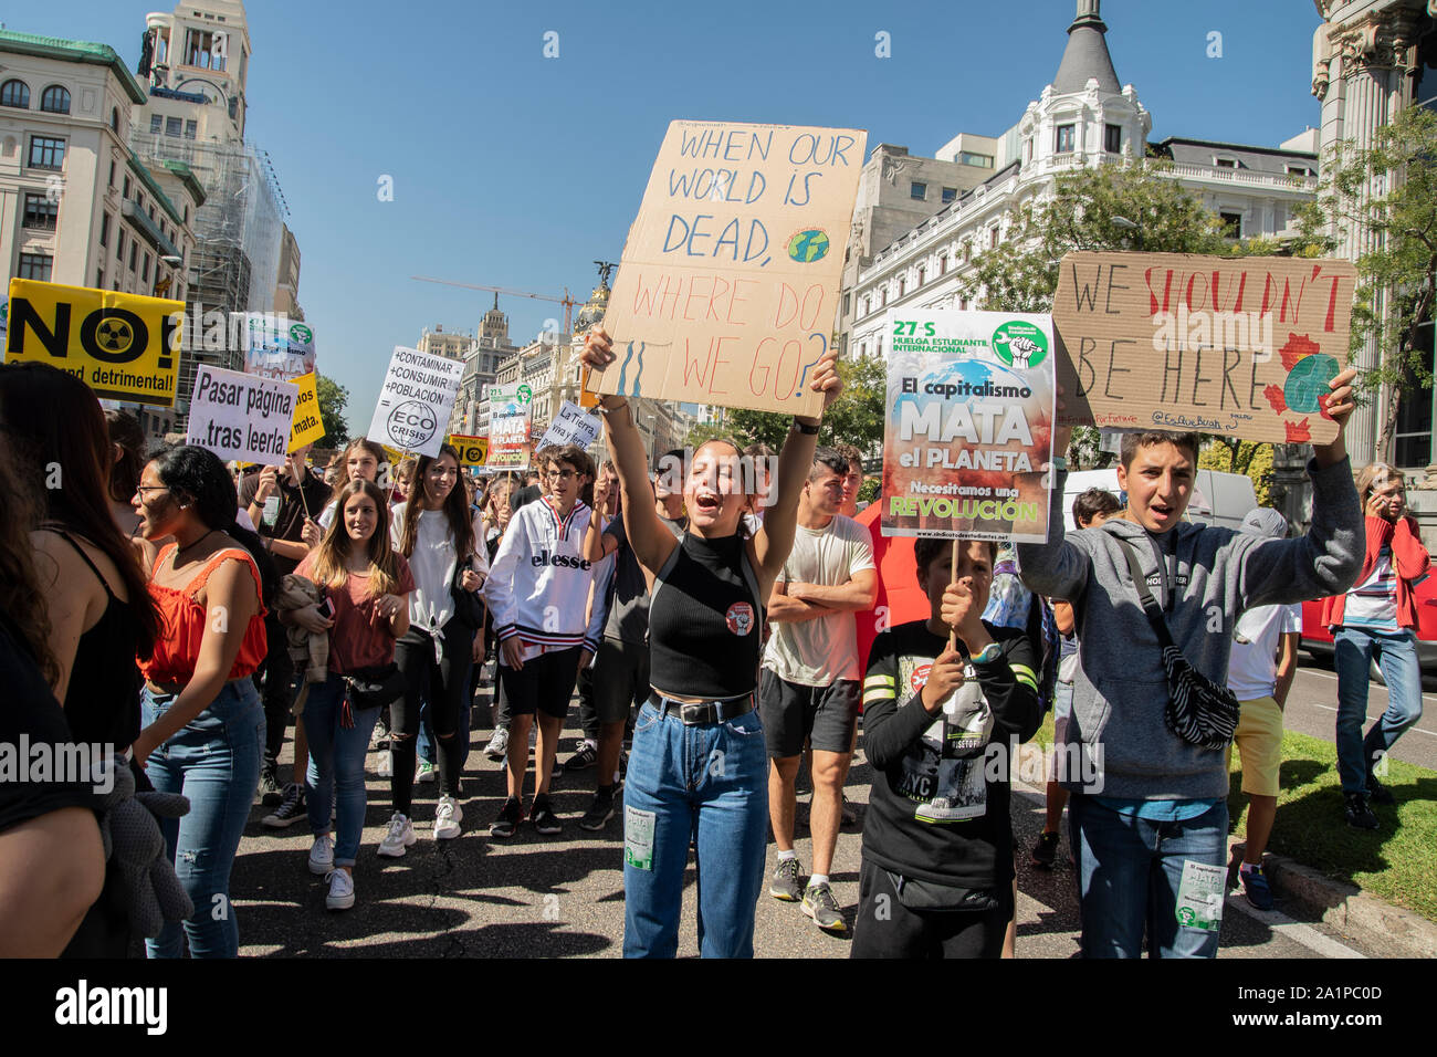
[[[1106,32],[1099,0],[1078,0],[1058,72],[1002,135],[964,132],[935,158],[874,148],[844,267],[838,331],[845,355],[885,352],[891,308],[971,308],[961,286],[974,257],[1009,237],[1023,206],[1050,197],[1061,173],[1163,157],[1165,173],[1219,214],[1233,237],[1289,230],[1295,209],[1316,193],[1316,131],[1277,148],[1183,138],[1150,144],[1152,115],[1119,81]],[[974,168],[981,180],[963,186]]]

